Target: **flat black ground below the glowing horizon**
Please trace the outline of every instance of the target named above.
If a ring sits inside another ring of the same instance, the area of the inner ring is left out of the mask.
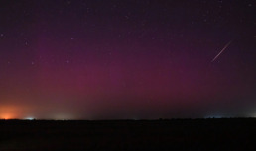
[[[0,120],[0,151],[254,150],[256,119]]]

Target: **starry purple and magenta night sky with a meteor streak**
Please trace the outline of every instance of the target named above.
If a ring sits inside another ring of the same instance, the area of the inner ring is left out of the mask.
[[[256,116],[255,0],[1,0],[0,118]]]

